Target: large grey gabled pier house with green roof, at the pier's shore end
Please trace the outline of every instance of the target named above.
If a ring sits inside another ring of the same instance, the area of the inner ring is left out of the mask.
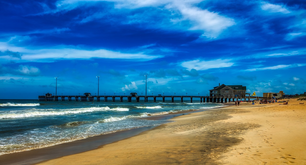
[[[245,97],[245,95],[250,95],[249,93],[246,93],[246,86],[242,85],[222,84],[209,91],[209,96],[219,97]]]

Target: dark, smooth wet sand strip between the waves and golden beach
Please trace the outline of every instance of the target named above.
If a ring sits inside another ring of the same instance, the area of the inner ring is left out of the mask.
[[[230,104],[230,103],[228,103]],[[224,106],[223,106],[224,107]],[[222,107],[217,107],[222,108]],[[215,108],[211,108],[215,109]],[[166,113],[161,115],[154,115],[145,117],[147,120],[171,120],[175,117],[207,111],[211,109],[189,109],[174,113]],[[0,155],[0,163],[5,164],[35,164],[46,160],[52,160],[63,156],[82,153],[94,149],[98,149],[102,145],[110,144],[116,141],[123,140],[132,136],[136,136],[141,132],[151,130],[159,125],[132,128],[128,130],[116,131],[108,134],[97,135],[85,139],[80,139],[72,142],[62,143],[40,149],[32,149],[28,151],[15,152],[5,155]]]

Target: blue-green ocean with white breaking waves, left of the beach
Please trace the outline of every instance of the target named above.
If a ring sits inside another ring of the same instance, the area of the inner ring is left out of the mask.
[[[188,109],[211,109],[221,103],[166,102],[38,102],[36,99],[0,100],[0,155],[76,141],[132,128],[160,125],[170,120],[148,116]]]

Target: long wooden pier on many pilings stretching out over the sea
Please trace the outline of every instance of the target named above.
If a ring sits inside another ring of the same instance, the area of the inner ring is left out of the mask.
[[[189,98],[190,102],[192,102],[193,98],[200,98],[200,102],[213,102],[213,103],[226,103],[226,102],[231,102],[231,101],[242,101],[242,100],[246,100],[248,99],[248,101],[250,99],[256,99],[256,97],[253,96],[246,96],[246,97],[230,97],[230,96],[122,96],[122,95],[102,95],[102,96],[92,96],[92,95],[62,95],[62,96],[52,96],[52,95],[42,95],[42,96],[38,96],[38,101],[65,101],[65,99],[67,98],[67,100],[70,101],[82,101],[82,102],[94,102],[94,101],[100,101],[101,98],[103,98],[104,102],[109,101],[108,98],[111,98],[112,102],[116,101],[116,98],[120,98],[120,102],[123,102],[123,98],[126,98],[126,100],[128,102],[132,102],[133,100],[135,102],[141,102],[141,100],[143,100],[143,102],[148,102],[148,99],[151,98],[153,99],[153,102],[156,102],[156,98],[160,98],[162,102],[165,102],[165,98],[171,98],[171,102],[174,102],[174,98],[181,98],[181,102],[183,102],[184,98]],[[267,98],[263,98],[263,97],[257,97],[257,99],[267,99]]]

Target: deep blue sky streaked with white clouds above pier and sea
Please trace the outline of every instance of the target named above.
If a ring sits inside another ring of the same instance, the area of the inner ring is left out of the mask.
[[[0,19],[0,99],[96,95],[96,76],[99,95],[306,91],[304,0],[2,0]]]

